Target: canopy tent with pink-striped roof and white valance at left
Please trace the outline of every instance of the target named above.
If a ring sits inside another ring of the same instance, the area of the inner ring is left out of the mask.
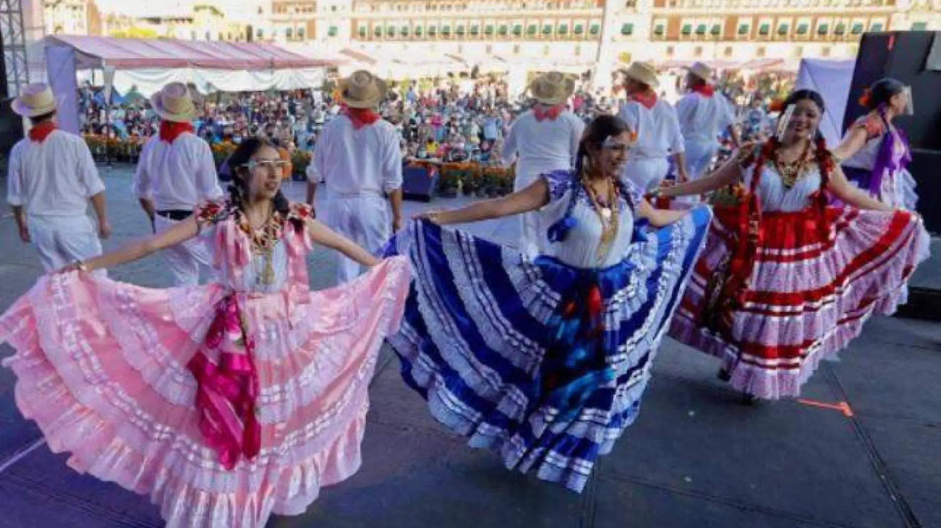
[[[44,45],[59,126],[76,134],[76,72],[81,70],[102,70],[107,93],[133,88],[150,96],[171,82],[206,91],[319,88],[329,65],[267,43],[56,35]]]

